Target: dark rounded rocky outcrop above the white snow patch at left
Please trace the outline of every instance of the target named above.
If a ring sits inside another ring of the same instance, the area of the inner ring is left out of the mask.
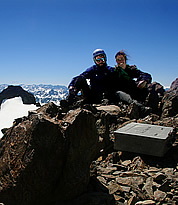
[[[10,85],[0,93],[0,105],[3,100],[14,97],[21,97],[23,104],[36,104],[36,100],[33,94],[25,91],[20,86]]]

